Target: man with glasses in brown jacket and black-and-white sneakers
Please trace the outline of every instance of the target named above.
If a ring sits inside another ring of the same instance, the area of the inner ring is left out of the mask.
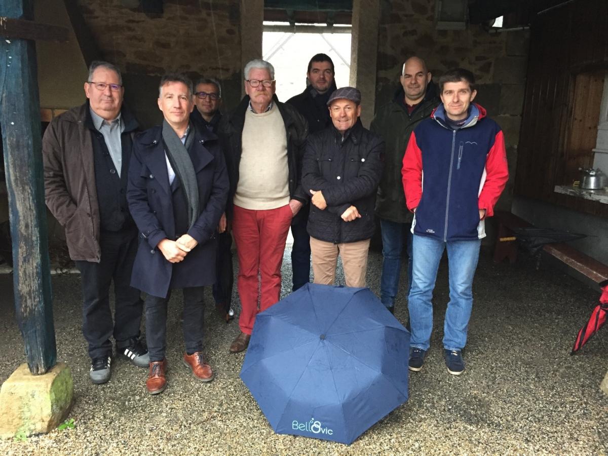
[[[139,342],[142,301],[131,288],[137,228],[126,202],[126,183],[137,121],[122,104],[125,89],[116,66],[94,61],[84,105],[55,117],[44,132],[46,204],[66,233],[80,270],[83,334],[94,384],[110,378],[112,342],[120,358],[148,367]],[[114,280],[115,312],[109,305]]]

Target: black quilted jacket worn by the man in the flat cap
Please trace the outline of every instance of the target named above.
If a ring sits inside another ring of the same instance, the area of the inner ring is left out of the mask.
[[[312,134],[306,144],[302,187],[322,190],[324,210],[310,205],[308,234],[334,244],[371,238],[376,191],[382,175],[384,141],[363,128],[361,120],[348,131],[344,141],[333,126]],[[345,222],[340,218],[354,206],[361,218]]]

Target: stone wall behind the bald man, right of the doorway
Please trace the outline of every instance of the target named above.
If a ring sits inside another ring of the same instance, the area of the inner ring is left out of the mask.
[[[376,107],[388,102],[399,85],[403,61],[426,60],[435,81],[452,67],[471,70],[478,83],[475,101],[505,133],[510,179],[497,209],[510,209],[522,119],[528,32],[491,33],[482,26],[436,30],[435,1],[380,0]]]

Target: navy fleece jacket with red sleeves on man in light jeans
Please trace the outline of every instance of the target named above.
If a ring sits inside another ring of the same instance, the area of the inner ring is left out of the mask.
[[[505,138],[477,103],[457,130],[445,119],[439,105],[413,131],[403,157],[407,208],[415,209],[412,232],[443,241],[481,239],[479,209],[494,214],[509,178]]]

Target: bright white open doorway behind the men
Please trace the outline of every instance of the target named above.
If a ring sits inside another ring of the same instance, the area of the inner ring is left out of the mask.
[[[308,61],[322,52],[331,57],[336,85],[348,85],[350,78],[351,27],[314,24],[289,26],[288,22],[264,21],[263,59],[272,63],[277,80],[277,97],[285,102],[306,88]]]

